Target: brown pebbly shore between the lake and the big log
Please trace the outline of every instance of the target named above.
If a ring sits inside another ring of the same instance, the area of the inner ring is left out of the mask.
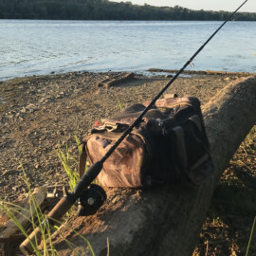
[[[69,153],[77,157],[75,135],[82,137],[88,133],[94,121],[118,112],[119,102],[125,107],[134,102],[152,99],[170,80],[165,76],[148,78],[136,75],[132,81],[121,82],[113,87],[98,86],[101,80],[114,75],[116,74],[69,73],[0,83],[2,198],[12,200],[17,194],[26,191],[22,167],[32,188],[44,184],[65,184],[67,177],[56,154],[58,149],[65,150],[67,145]],[[247,75],[190,74],[174,82],[168,92],[179,96],[195,96],[205,103],[217,90],[238,77]],[[247,228],[249,225],[248,221]],[[234,238],[229,243],[237,246],[237,239]],[[198,246],[202,253],[205,253],[203,251],[206,248],[209,250],[209,244],[204,247],[205,241],[202,238],[202,244]],[[234,251],[239,254],[241,249],[237,247]],[[214,252],[213,248],[212,250]]]

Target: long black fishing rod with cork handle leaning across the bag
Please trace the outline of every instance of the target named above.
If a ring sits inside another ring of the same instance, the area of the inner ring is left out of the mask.
[[[101,169],[103,167],[103,163],[106,161],[106,159],[113,154],[113,152],[117,149],[119,144],[122,142],[122,140],[127,137],[132,130],[135,127],[138,127],[140,122],[142,121],[142,118],[145,116],[145,114],[154,106],[155,101],[157,101],[160,96],[170,87],[170,85],[177,79],[177,77],[184,71],[184,69],[189,65],[192,64],[192,60],[201,52],[201,50],[208,45],[210,40],[216,35],[216,33],[225,26],[225,24],[234,16],[234,14],[241,9],[248,0],[246,0],[241,6],[239,6],[237,9],[235,9],[229,17],[226,19],[223,24],[218,27],[210,36],[210,38],[202,45],[200,46],[195,53],[192,55],[192,57],[187,61],[186,64],[182,66],[182,68],[174,75],[174,78],[168,82],[162,90],[155,96],[155,99],[150,102],[150,104],[143,110],[143,112],[137,117],[137,119],[123,132],[123,134],[119,137],[119,139],[116,141],[116,143],[108,150],[108,152],[102,156],[101,160],[94,163],[85,174],[82,175],[81,180],[76,185],[73,192],[66,192],[66,195],[59,201],[59,203],[48,213],[47,215],[47,221],[50,225],[54,225],[57,223],[64,214],[70,210],[70,208],[73,206],[73,204],[81,198],[85,192],[88,192],[88,187],[91,185],[93,180],[98,176],[98,174],[101,173]],[[92,186],[92,185],[91,185]],[[92,188],[94,188],[92,186]],[[102,198],[100,199],[101,201]],[[102,202],[101,202],[102,203]],[[24,253],[31,253],[33,251],[33,248],[35,248],[35,245],[38,245],[38,241],[40,240],[40,233],[42,226],[46,225],[46,223],[42,223],[40,227],[34,229],[34,231],[28,236],[28,238],[21,244],[20,249]]]

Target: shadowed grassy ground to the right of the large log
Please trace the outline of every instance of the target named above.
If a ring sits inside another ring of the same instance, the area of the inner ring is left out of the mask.
[[[256,125],[230,160],[193,255],[256,255]]]

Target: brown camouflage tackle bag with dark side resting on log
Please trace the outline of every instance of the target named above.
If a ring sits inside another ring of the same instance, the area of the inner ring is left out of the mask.
[[[145,109],[134,104],[112,119],[96,122],[88,139],[83,139],[80,174],[85,157],[89,164],[102,156]],[[210,143],[196,98],[167,97],[155,102],[139,127],[124,138],[104,162],[98,178],[102,186],[140,188],[182,177],[203,182],[213,172]]]

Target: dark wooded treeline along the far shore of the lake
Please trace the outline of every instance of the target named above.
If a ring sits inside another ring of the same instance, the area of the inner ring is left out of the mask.
[[[0,0],[0,19],[54,20],[224,20],[228,11],[175,6],[137,6],[108,0]],[[236,21],[256,21],[256,13],[239,12]]]

